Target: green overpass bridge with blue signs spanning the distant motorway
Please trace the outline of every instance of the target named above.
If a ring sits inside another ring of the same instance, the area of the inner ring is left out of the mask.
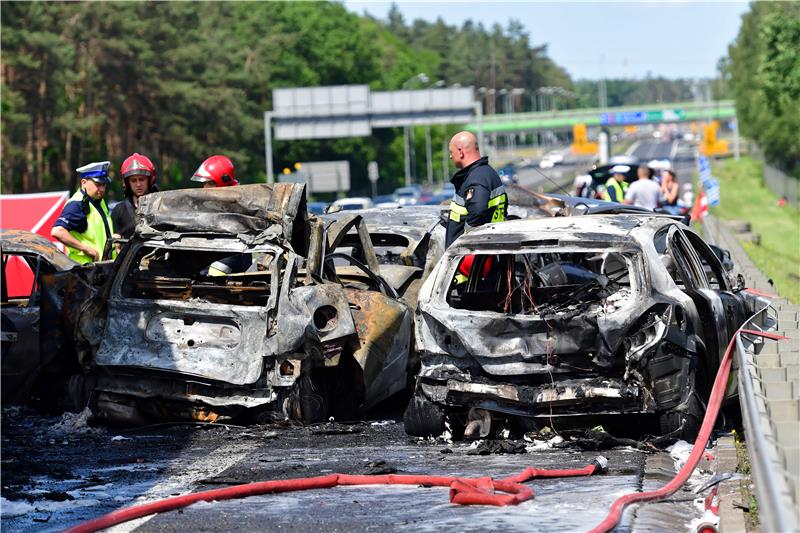
[[[614,127],[665,122],[731,119],[736,115],[733,100],[676,102],[609,107],[605,109],[564,109],[535,113],[503,113],[478,116],[467,129],[482,133],[515,133],[540,130],[569,130],[586,126]]]

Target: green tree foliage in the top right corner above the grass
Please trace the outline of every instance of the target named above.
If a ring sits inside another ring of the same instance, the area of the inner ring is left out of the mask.
[[[742,133],[800,174],[800,3],[754,2],[728,49]]]

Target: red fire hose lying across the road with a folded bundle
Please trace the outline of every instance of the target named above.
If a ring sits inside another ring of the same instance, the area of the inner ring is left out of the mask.
[[[533,490],[525,481],[535,478],[591,476],[605,469],[605,459],[598,458],[583,468],[567,470],[545,470],[528,467],[515,476],[502,480],[490,477],[459,478],[450,476],[399,475],[363,476],[350,474],[330,474],[312,478],[287,479],[282,481],[261,481],[246,483],[223,489],[213,489],[193,494],[185,494],[152,503],[145,503],[120,509],[94,520],[79,524],[68,533],[88,533],[106,529],[129,520],[156,513],[173,511],[201,501],[230,500],[257,494],[292,492],[311,489],[330,489],[337,486],[355,485],[419,485],[422,487],[449,487],[450,502],[457,505],[517,505],[533,498]],[[499,494],[498,494],[499,492]]]

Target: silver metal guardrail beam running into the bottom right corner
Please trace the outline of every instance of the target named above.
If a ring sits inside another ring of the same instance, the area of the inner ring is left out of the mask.
[[[777,316],[772,317],[769,300],[753,296],[752,310],[758,312],[751,321],[753,329],[776,331]],[[774,309],[773,309],[774,311]],[[742,423],[747,435],[747,453],[750,458],[750,475],[755,485],[758,501],[758,516],[764,531],[786,532],[800,530],[800,519],[790,496],[791,489],[783,475],[778,456],[776,436],[768,417],[761,385],[755,381],[755,342],[746,335],[736,337],[736,361],[738,361],[739,404],[742,410]]]

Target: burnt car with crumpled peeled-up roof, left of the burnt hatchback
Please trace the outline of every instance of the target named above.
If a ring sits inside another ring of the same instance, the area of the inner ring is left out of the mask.
[[[363,221],[326,233],[305,202],[295,184],[142,199],[115,262],[79,271],[91,294],[64,303],[97,416],[351,420],[407,386],[408,306],[373,271],[358,288],[331,279],[327,252]]]

